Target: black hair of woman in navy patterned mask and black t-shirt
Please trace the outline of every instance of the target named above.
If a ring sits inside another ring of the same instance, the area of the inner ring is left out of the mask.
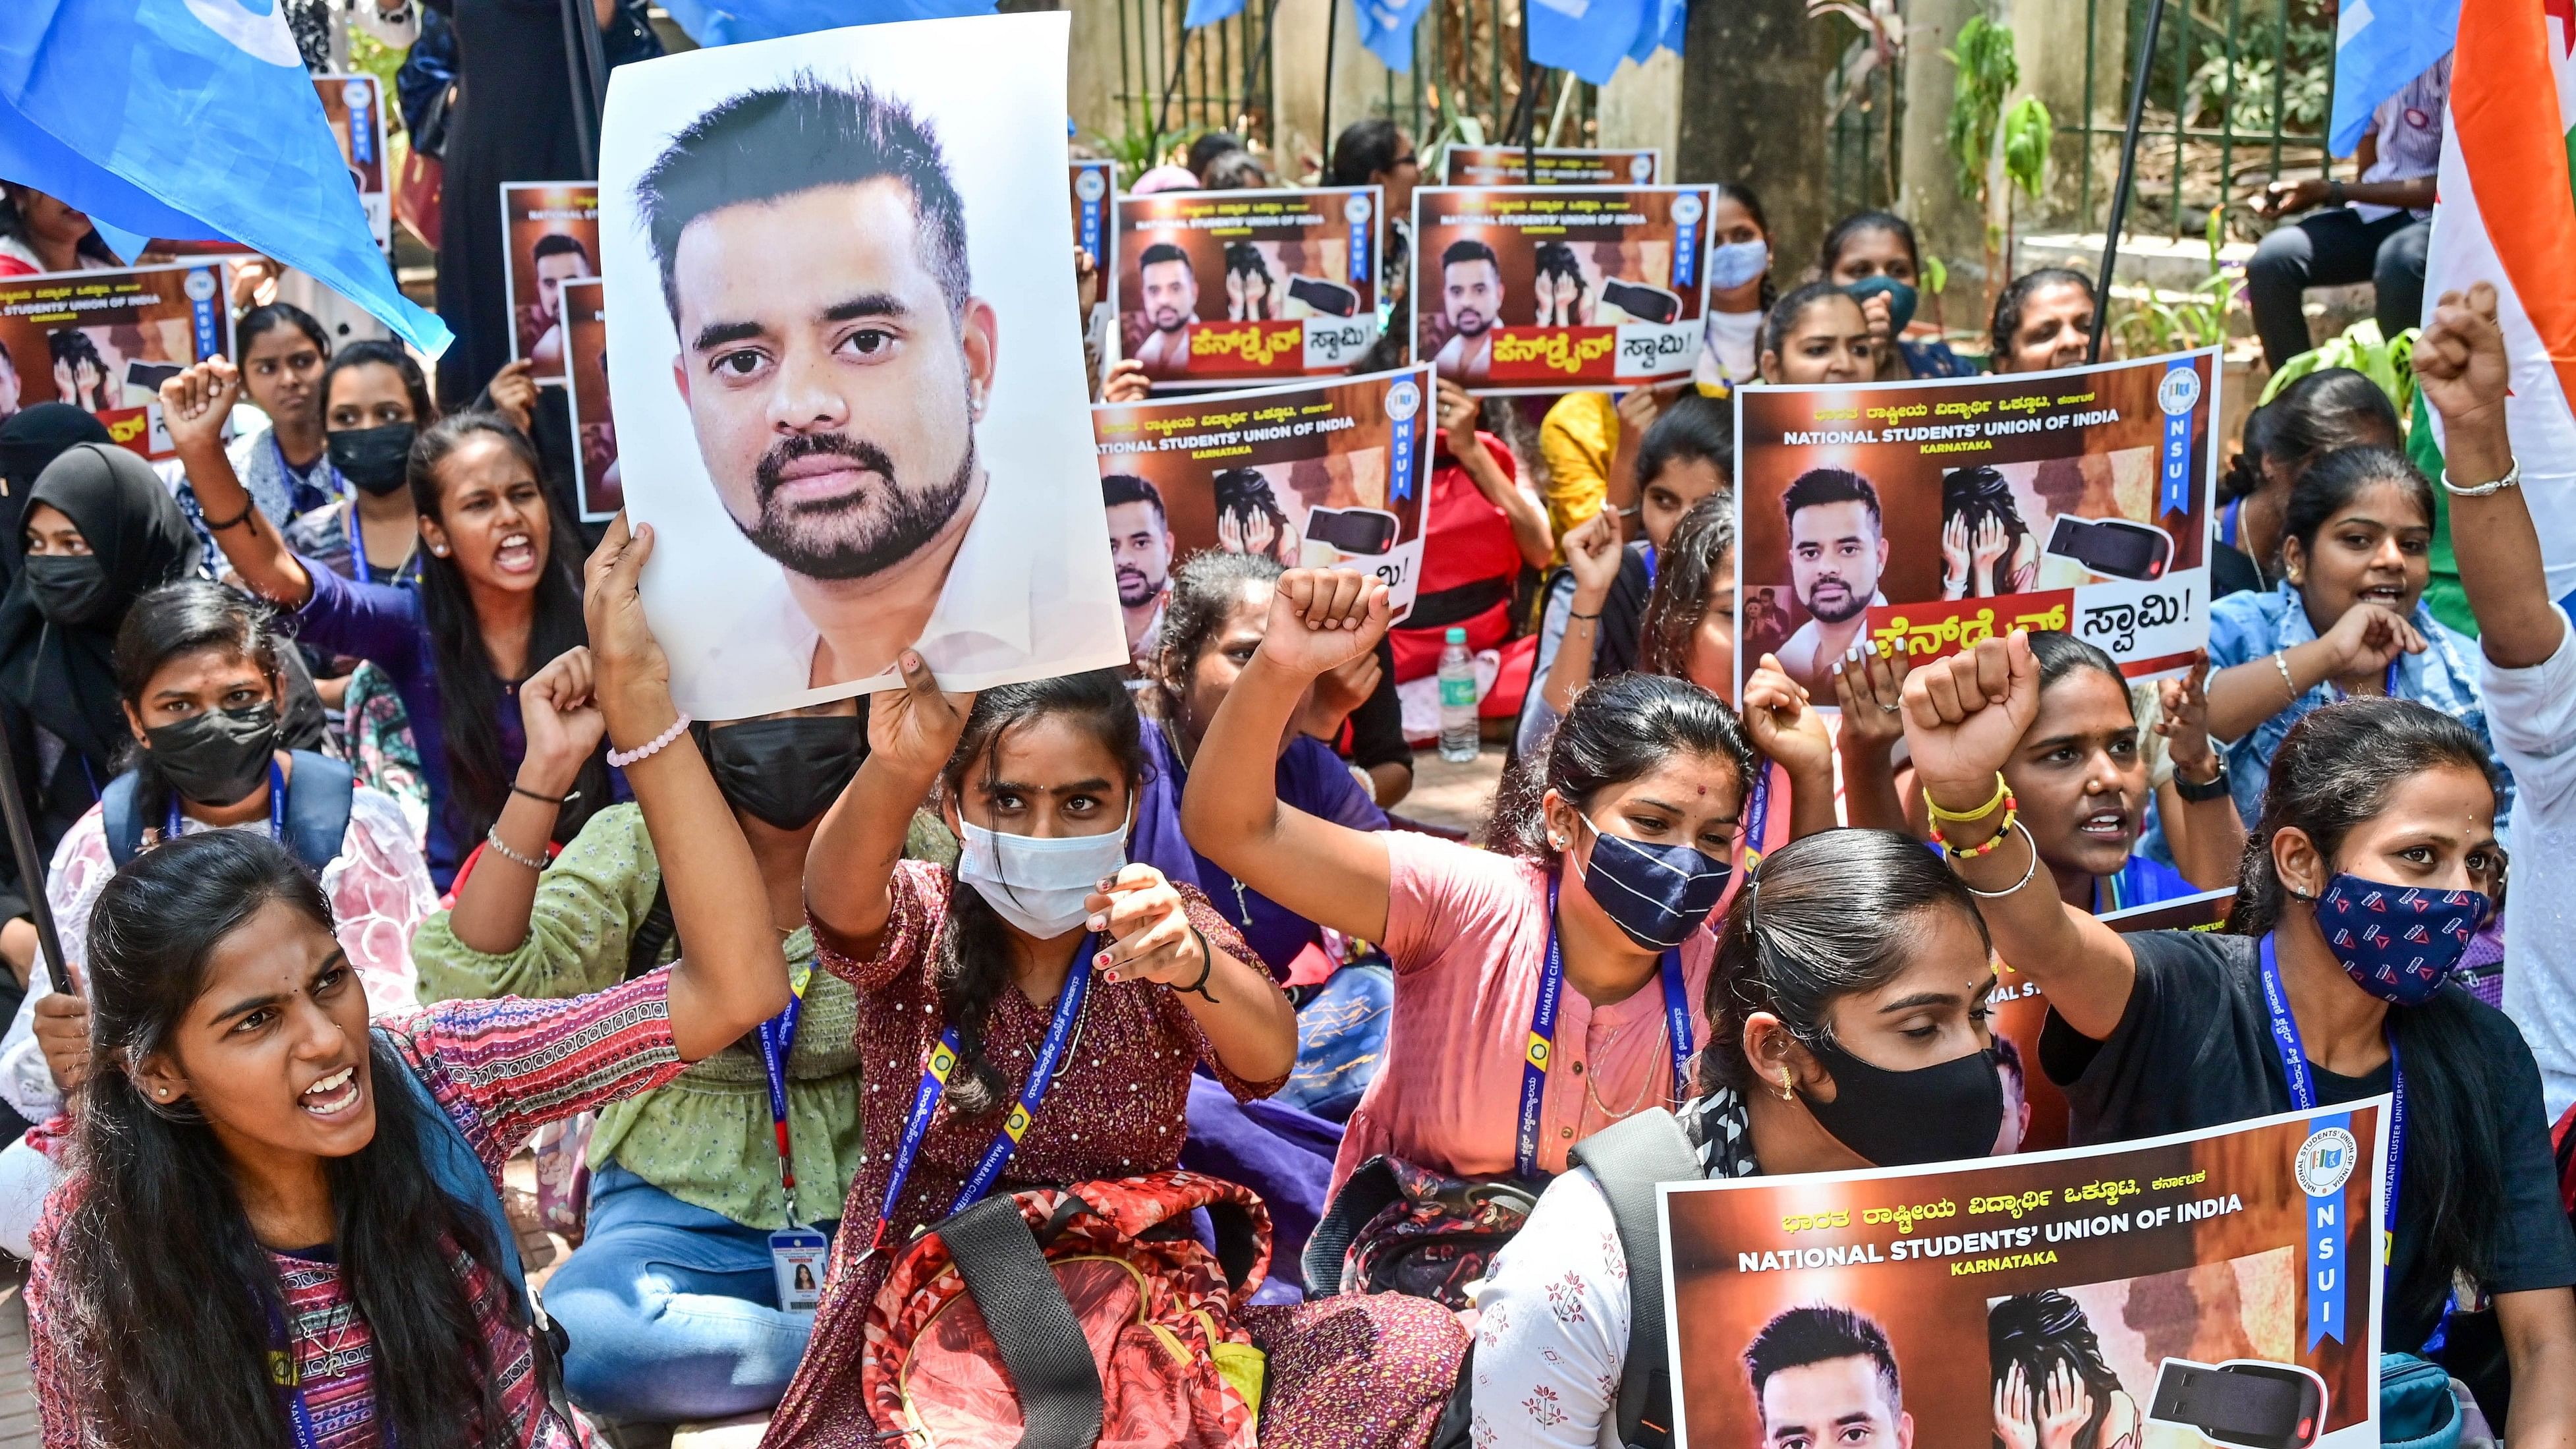
[[[2486,743],[2411,699],[2347,699],[2290,724],[2272,753],[2262,820],[2246,835],[2228,928],[2267,936],[2280,926],[2290,890],[2272,866],[2272,835],[2295,828],[2334,861],[2344,841],[2388,807],[2398,784],[2439,768],[2496,786]],[[2437,1312],[2452,1271],[2486,1276],[2491,1245],[2504,1232],[2504,1163],[2486,1127],[2478,1011],[2486,1006],[2460,987],[2424,1006],[2388,1008],[2391,1044],[2406,1060],[2406,1111],[2416,1119],[2406,1132],[2403,1191],[2424,1204],[2429,1245],[2416,1271],[2391,1287],[2391,1310]]]

